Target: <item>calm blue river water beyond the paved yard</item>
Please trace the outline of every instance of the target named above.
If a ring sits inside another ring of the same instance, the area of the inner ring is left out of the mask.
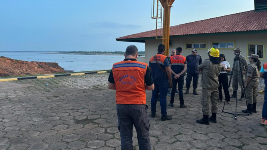
[[[0,56],[24,61],[58,63],[65,70],[95,71],[111,69],[113,63],[122,61],[122,55],[69,55],[46,52],[0,52]]]

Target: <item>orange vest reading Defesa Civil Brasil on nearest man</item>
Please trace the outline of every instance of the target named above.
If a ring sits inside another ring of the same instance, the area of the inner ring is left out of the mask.
[[[146,104],[146,71],[147,64],[138,61],[121,61],[113,64],[116,104]]]

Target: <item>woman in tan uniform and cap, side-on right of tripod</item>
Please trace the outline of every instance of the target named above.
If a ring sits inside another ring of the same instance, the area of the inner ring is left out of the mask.
[[[261,66],[258,55],[251,54],[248,58],[250,64],[245,70],[245,92],[247,97],[247,109],[242,110],[242,112],[252,114],[252,112],[257,112],[257,88],[259,85],[258,69],[260,69]]]

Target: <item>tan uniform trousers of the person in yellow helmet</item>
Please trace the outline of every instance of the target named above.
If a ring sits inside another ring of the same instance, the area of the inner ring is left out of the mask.
[[[217,113],[219,101],[218,88],[209,90],[202,88],[201,104],[204,115],[209,115],[210,103],[212,104],[212,113]]]

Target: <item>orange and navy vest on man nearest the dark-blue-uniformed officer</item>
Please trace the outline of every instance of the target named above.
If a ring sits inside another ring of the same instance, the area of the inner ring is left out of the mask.
[[[173,70],[176,74],[179,74],[184,70],[186,57],[180,54],[176,54],[171,56],[171,70]],[[172,74],[174,76],[174,74]],[[185,76],[185,73],[181,76]]]

